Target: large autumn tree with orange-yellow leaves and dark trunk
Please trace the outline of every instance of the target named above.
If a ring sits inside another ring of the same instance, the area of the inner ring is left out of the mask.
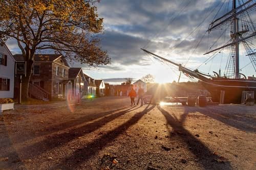
[[[0,38],[17,40],[31,75],[34,54],[52,49],[89,65],[110,63],[100,49],[102,18],[94,3],[84,0],[1,0]],[[29,80],[26,80],[28,83]]]

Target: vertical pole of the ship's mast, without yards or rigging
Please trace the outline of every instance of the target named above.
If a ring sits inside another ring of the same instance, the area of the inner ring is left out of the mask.
[[[230,37],[232,38],[234,43],[234,48],[235,48],[235,56],[234,56],[234,75],[236,79],[239,79],[239,25],[238,25],[238,18],[236,16],[237,10],[236,10],[236,0],[233,0],[233,5],[232,5],[232,10],[233,12],[233,33],[230,34]]]

